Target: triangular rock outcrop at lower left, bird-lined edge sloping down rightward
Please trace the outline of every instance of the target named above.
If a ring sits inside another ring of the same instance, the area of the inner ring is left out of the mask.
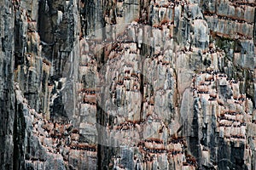
[[[15,138],[18,148],[17,169],[93,169],[96,145],[81,142],[79,129],[73,124],[50,122],[24,102],[16,85],[17,111]],[[24,147],[25,146],[25,147]],[[21,159],[21,160],[20,160]],[[96,168],[96,167],[95,167]]]

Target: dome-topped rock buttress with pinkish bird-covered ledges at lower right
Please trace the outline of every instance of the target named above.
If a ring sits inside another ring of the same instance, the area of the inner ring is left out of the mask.
[[[187,116],[181,116],[185,117],[182,121],[187,126],[185,129],[192,129],[184,133],[189,136],[190,147],[201,150],[193,155],[198,156],[202,167],[217,164],[220,169],[252,169],[252,162],[239,160],[246,160],[244,157],[254,150],[247,139],[253,131],[253,103],[239,93],[240,82],[227,80],[218,71],[195,76],[192,87],[183,94],[191,100],[183,102],[181,114]],[[226,150],[227,145],[230,147]]]

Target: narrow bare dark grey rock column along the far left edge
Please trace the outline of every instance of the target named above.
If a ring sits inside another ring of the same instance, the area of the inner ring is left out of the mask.
[[[15,14],[10,2],[1,2],[1,48],[0,48],[0,105],[1,105],[1,130],[0,130],[0,154],[1,169],[13,168],[14,156],[14,121],[15,121],[15,93],[13,82],[14,55],[15,55],[15,35],[9,31],[15,29]]]

